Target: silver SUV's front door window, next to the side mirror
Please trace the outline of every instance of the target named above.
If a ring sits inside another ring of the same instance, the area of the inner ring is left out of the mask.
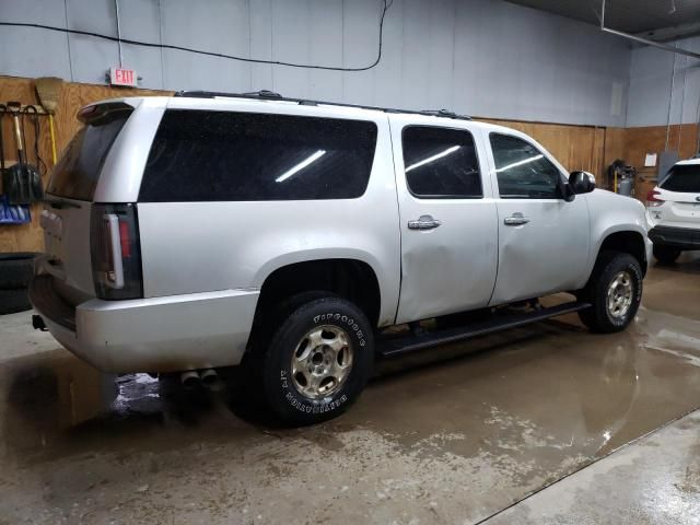
[[[509,135],[491,133],[502,199],[557,199],[561,172],[534,145]]]

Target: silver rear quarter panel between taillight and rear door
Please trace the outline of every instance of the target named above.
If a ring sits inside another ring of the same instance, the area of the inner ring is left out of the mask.
[[[374,269],[380,324],[393,323],[400,276],[398,205],[388,121],[383,114],[374,121],[372,175],[360,198],[139,203],[144,296],[259,289],[283,266],[348,258]]]

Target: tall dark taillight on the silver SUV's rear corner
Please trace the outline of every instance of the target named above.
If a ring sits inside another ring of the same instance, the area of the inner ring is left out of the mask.
[[[135,205],[93,205],[92,275],[100,299],[143,296],[139,223]]]

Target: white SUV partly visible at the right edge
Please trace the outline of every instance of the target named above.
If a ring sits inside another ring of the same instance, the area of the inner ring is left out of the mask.
[[[700,249],[700,159],[677,162],[649,191],[646,219],[658,261]]]

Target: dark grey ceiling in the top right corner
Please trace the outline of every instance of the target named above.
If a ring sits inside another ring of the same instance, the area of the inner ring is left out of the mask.
[[[509,0],[599,25],[600,0]],[[700,33],[700,0],[607,0],[605,25],[655,40]]]

